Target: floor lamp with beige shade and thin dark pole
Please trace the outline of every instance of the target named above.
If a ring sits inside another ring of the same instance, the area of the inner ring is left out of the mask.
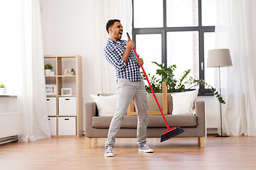
[[[228,49],[209,50],[207,67],[218,67],[219,82],[220,82],[220,67],[228,67],[228,66],[232,66],[230,51]],[[221,97],[221,88],[220,88],[220,97]],[[221,103],[220,103],[220,129],[221,129],[221,134],[215,137],[229,137],[229,135],[223,135]]]

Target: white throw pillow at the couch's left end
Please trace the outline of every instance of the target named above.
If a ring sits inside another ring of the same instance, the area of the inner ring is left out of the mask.
[[[90,95],[96,102],[99,116],[112,116],[117,108],[117,94],[111,96]]]

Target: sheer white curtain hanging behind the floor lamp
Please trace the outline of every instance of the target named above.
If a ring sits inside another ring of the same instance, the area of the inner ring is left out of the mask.
[[[216,47],[229,48],[233,60],[220,71],[223,130],[233,136],[256,135],[255,6],[254,0],[217,1]]]

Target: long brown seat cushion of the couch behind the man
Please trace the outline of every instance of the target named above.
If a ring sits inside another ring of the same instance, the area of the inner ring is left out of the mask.
[[[196,115],[166,115],[170,127],[196,127]],[[92,118],[93,128],[109,128],[112,116],[95,116]],[[149,115],[148,128],[165,128],[161,115]],[[137,128],[137,116],[124,116],[121,128]]]

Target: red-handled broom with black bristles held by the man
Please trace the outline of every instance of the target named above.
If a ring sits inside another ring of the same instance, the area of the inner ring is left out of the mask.
[[[128,33],[127,33],[127,37],[128,37],[128,40],[131,40],[131,38],[129,37],[129,34],[128,34]],[[139,59],[139,56],[137,55],[137,52],[136,52],[135,48],[134,48],[133,50],[134,50],[134,53],[135,53],[137,59]],[[140,67],[142,67],[142,65],[141,65]],[[152,87],[151,87],[151,84],[149,83],[149,79],[148,79],[148,77],[146,76],[146,72],[144,71],[144,68],[143,68],[143,67],[142,67],[142,71],[143,71],[143,73],[144,73],[144,75],[145,75],[145,77],[146,77],[146,81],[148,82],[149,87],[150,87],[150,89],[151,89],[151,91],[152,91],[152,94],[153,94],[153,96],[154,96],[154,99],[155,99],[155,101],[156,101],[156,104],[157,104],[157,106],[159,107],[159,110],[160,110],[160,112],[161,112],[161,115],[162,115],[163,118],[164,118],[164,122],[166,123],[167,130],[161,135],[161,142],[164,142],[165,140],[169,140],[171,137],[175,137],[176,135],[181,134],[182,132],[184,132],[184,130],[181,129],[180,127],[174,127],[174,128],[170,128],[170,127],[169,127],[169,125],[168,125],[168,123],[167,123],[167,121],[166,121],[166,118],[164,117],[164,113],[163,113],[163,111],[161,110],[161,107],[160,107],[160,105],[159,105],[159,102],[157,101],[156,95],[154,94],[154,91],[153,91],[153,89],[152,89]]]

